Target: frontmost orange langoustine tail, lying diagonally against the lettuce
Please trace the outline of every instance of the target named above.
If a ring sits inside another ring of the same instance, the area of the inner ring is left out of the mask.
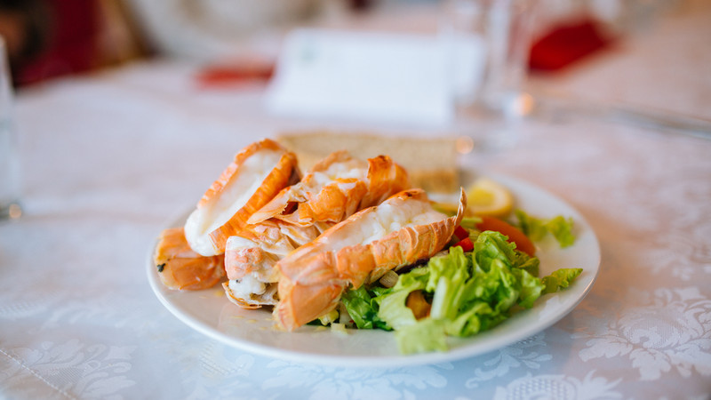
[[[329,228],[276,263],[277,323],[292,331],[335,308],[348,286],[432,257],[450,241],[466,204],[462,189],[457,215],[448,218],[422,189],[411,189]]]

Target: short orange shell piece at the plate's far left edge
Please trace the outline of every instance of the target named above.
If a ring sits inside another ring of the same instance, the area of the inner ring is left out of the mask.
[[[153,261],[165,287],[198,291],[212,287],[225,276],[224,258],[194,252],[183,228],[165,229],[158,238]]]

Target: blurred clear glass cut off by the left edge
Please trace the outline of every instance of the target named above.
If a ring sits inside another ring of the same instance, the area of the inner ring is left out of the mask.
[[[0,220],[20,218],[20,160],[12,119],[12,84],[0,36]]]

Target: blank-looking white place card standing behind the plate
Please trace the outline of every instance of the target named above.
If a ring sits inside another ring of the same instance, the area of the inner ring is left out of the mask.
[[[451,44],[438,36],[298,29],[267,96],[278,115],[443,125],[454,116]]]

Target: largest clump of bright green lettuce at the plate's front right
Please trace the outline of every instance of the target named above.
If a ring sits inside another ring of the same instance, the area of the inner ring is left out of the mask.
[[[474,247],[470,253],[452,247],[449,254],[429,260],[427,268],[400,276],[390,292],[375,299],[378,317],[395,329],[403,353],[441,351],[448,335],[466,337],[491,329],[514,306],[530,308],[545,289],[529,272],[538,268],[538,259],[517,252],[506,236],[483,232]],[[432,296],[430,315],[420,320],[405,305],[415,290]]]

